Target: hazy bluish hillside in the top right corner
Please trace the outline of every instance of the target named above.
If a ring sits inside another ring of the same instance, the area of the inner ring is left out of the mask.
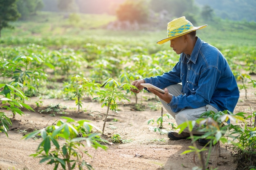
[[[200,7],[209,5],[223,19],[256,22],[256,0],[195,0],[195,3]]]

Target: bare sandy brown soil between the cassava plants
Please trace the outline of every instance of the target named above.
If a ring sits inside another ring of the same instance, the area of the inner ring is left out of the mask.
[[[247,112],[255,110],[256,97],[255,89],[247,92],[247,100],[245,100],[245,91],[240,91],[240,99],[234,113]],[[36,108],[35,101],[38,98],[31,98],[29,104]],[[75,101],[64,101],[62,99],[42,99],[43,106],[49,104],[61,104],[68,108],[76,108]],[[128,141],[124,144],[112,144],[108,146],[108,150],[94,148],[84,148],[88,150],[92,158],[85,157],[85,160],[92,165],[95,170],[191,170],[193,167],[200,165],[198,158],[194,153],[181,155],[182,152],[191,146],[190,140],[171,141],[167,135],[160,135],[154,132],[155,124],[147,124],[149,119],[157,119],[160,116],[160,109],[153,111],[150,106],[157,103],[155,96],[150,93],[139,93],[139,102],[143,101],[146,108],[144,111],[136,111],[132,108],[135,99],[132,97],[131,102],[126,102],[126,106],[120,105],[118,113],[110,111],[109,118],[106,123],[105,132],[108,136],[119,134],[122,139]],[[161,106],[159,106],[161,108]],[[68,109],[69,114],[75,120],[87,119],[92,124],[102,129],[103,118],[107,108],[101,108],[101,104],[95,101],[83,101],[84,113],[77,113],[74,109]],[[3,111],[3,110],[2,110]],[[11,113],[4,110],[11,117]],[[57,120],[60,116],[51,116],[49,114],[41,114],[38,112],[29,112],[24,110],[25,115],[16,115],[16,119],[12,120],[13,126],[8,131],[9,137],[0,134],[0,170],[52,170],[53,166],[40,164],[39,159],[29,157],[35,153],[36,148],[41,139],[33,140],[22,139],[22,133],[19,130],[27,130],[31,132],[35,129],[41,129]],[[166,113],[166,110],[164,110]],[[118,121],[113,121],[113,119]],[[174,119],[168,119],[175,123]],[[164,124],[164,128],[170,128]],[[168,131],[169,129],[166,129]],[[198,145],[198,148],[202,148]],[[235,170],[236,163],[234,157],[231,156],[231,149],[227,144],[220,144],[220,156],[217,154],[217,147],[211,152],[209,166],[218,168],[218,170]],[[207,152],[204,156],[207,157]]]

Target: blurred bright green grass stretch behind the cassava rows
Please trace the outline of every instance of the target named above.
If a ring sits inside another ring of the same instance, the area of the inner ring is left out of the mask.
[[[155,45],[156,50],[170,49],[169,43],[157,45],[156,42],[166,38],[166,29],[153,28],[155,31],[112,31],[103,29],[109,22],[115,21],[113,15],[79,14],[80,21],[73,25],[65,18],[65,13],[39,12],[38,15],[31,17],[26,21],[14,22],[15,29],[2,29],[2,44],[16,44],[6,39],[25,38],[29,42],[41,45],[41,39],[62,39],[63,44],[81,46],[84,43],[97,44],[134,44],[135,46]],[[223,46],[255,46],[256,28],[255,22],[233,22],[229,20],[212,21],[205,29],[198,30],[198,36],[210,44],[217,47]],[[5,43],[7,41],[7,43]],[[69,42],[71,41],[71,42]],[[51,44],[49,44],[51,45]],[[71,46],[72,47],[72,46]]]

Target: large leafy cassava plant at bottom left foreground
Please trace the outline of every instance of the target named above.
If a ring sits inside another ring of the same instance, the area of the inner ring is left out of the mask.
[[[83,170],[84,166],[92,170],[92,166],[83,160],[84,155],[91,157],[84,149],[85,146],[106,150],[107,146],[101,145],[100,142],[108,143],[108,141],[101,139],[98,133],[92,132],[92,128],[99,129],[90,124],[88,120],[74,121],[69,117],[61,118],[66,121],[59,120],[56,125],[47,126],[25,135],[25,139],[38,135],[43,138],[36,153],[30,156],[40,158],[40,163],[53,164],[54,170],[57,170],[59,166],[64,170],[75,168]],[[62,142],[63,140],[65,142]]]

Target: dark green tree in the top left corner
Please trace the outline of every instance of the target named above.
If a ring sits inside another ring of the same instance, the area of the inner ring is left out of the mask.
[[[9,24],[11,21],[16,21],[20,17],[17,10],[16,0],[0,0],[0,37],[3,28],[13,28]]]

